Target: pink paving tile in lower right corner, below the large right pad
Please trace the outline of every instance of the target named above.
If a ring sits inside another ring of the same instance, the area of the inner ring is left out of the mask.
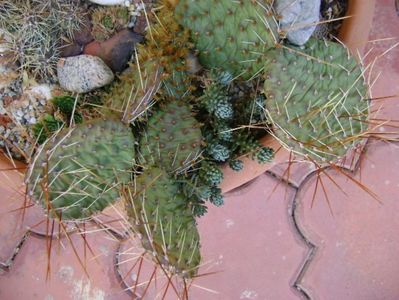
[[[314,299],[399,299],[399,145],[374,143],[368,147],[359,180],[376,199],[340,172],[321,175],[315,202],[313,176],[301,189],[296,219],[305,236],[317,245],[300,286]],[[339,190],[333,181],[347,195]]]

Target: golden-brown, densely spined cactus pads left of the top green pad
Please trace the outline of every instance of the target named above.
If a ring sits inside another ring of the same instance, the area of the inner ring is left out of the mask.
[[[149,16],[151,26],[146,43],[138,46],[135,63],[105,97],[106,111],[118,113],[125,123],[143,115],[160,87],[176,98],[191,88],[185,66],[189,53],[188,32],[176,22],[168,3],[161,1],[161,4],[162,8]]]

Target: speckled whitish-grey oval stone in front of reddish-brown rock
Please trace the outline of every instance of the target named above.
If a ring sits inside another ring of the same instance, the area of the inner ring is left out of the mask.
[[[57,65],[60,86],[70,92],[87,93],[111,83],[114,73],[97,56],[62,58]]]

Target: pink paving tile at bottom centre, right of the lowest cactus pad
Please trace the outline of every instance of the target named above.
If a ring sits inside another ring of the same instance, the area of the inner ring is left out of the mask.
[[[308,249],[290,218],[295,189],[281,183],[273,193],[277,184],[261,175],[198,220],[199,273],[218,273],[196,279],[193,299],[298,299],[292,284]]]

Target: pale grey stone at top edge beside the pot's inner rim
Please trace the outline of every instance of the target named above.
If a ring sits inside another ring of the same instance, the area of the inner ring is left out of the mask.
[[[288,40],[298,46],[305,44],[319,21],[321,0],[276,0],[275,9],[281,16],[280,27]]]

